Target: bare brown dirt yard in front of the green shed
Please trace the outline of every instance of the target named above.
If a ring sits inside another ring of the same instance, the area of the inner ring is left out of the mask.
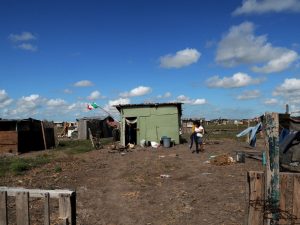
[[[0,177],[0,186],[75,189],[81,225],[244,224],[246,173],[262,170],[261,162],[207,163],[223,153],[235,159],[235,151],[243,150],[250,150],[246,143],[229,139],[206,144],[200,154],[187,143],[125,154],[95,150],[61,156],[23,176]]]

